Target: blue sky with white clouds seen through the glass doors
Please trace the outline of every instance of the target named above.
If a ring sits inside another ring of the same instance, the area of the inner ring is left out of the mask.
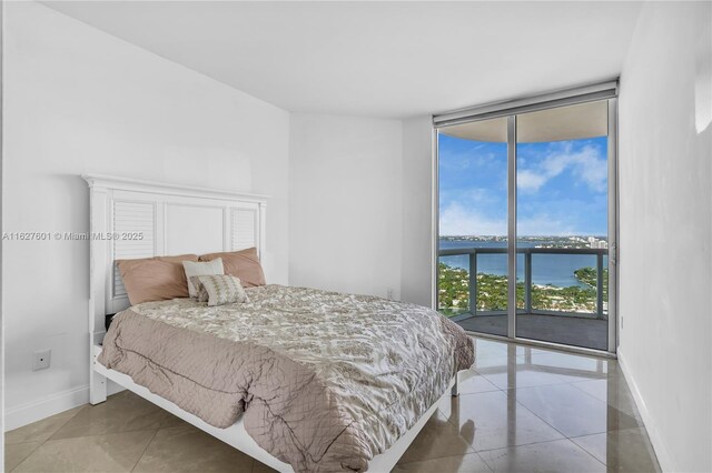
[[[441,235],[506,235],[506,143],[438,147]],[[517,234],[605,235],[606,154],[606,137],[517,144]]]

